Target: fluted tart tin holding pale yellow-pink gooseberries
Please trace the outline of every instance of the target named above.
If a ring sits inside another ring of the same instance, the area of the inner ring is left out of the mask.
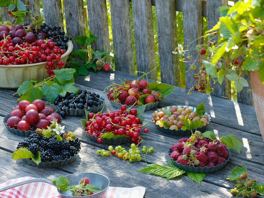
[[[186,108],[191,109],[192,112],[196,112],[196,108],[195,107],[186,106],[186,105],[177,105],[177,106],[168,106],[168,107],[160,108],[160,109],[154,111],[154,113],[158,113],[158,112],[164,111],[166,109],[170,109],[172,107],[186,107]],[[199,127],[197,129],[192,129],[192,130],[197,130],[197,131],[200,131],[200,132],[205,131],[207,125],[211,122],[211,116],[207,112],[205,112],[204,115],[206,115],[208,117],[208,123],[205,126]],[[152,120],[154,122],[153,116],[152,116]],[[157,129],[159,129],[159,131],[162,131],[163,133],[166,133],[166,134],[169,134],[169,135],[173,135],[173,136],[190,136],[192,134],[192,130],[187,130],[186,129],[185,131],[183,131],[182,129],[176,130],[176,129],[165,128],[164,126],[160,127],[156,123],[155,123],[155,125],[156,125]],[[193,132],[195,132],[195,131],[193,131]]]

